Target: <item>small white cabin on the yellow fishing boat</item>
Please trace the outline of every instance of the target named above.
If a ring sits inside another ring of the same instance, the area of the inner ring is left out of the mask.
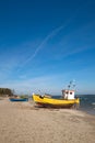
[[[62,90],[63,99],[74,99],[74,90],[64,89]]]

